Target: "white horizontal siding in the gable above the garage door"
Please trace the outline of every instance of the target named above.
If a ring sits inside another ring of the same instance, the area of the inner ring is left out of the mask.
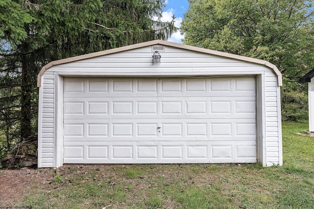
[[[65,63],[47,71],[67,72],[212,72],[216,75],[265,70],[254,63],[165,47],[160,64],[152,63],[151,47],[143,47],[100,57]],[[47,72],[46,71],[46,72]]]

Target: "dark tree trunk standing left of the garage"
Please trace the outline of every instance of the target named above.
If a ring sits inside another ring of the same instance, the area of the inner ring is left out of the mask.
[[[26,52],[27,45],[22,45],[22,52]],[[21,139],[31,135],[31,64],[30,55],[21,56],[22,63],[22,87],[21,87]]]

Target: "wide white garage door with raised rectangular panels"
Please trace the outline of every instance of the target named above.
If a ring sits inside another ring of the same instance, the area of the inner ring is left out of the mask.
[[[64,163],[255,163],[256,79],[64,78]]]

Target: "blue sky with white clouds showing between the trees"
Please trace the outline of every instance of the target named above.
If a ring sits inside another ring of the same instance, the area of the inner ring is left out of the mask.
[[[175,15],[176,23],[175,26],[180,27],[180,24],[183,19],[183,14],[186,12],[188,8],[188,2],[187,0],[165,0],[166,8],[164,9],[162,13],[162,19],[161,21],[171,21],[171,17]],[[177,32],[173,34],[167,41],[180,43],[182,44],[181,39],[183,38],[183,35],[180,34],[180,32]]]

